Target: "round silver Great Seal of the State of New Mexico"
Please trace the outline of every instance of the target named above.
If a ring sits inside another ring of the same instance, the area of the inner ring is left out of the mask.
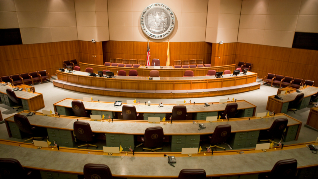
[[[168,6],[154,3],[142,11],[140,25],[150,38],[163,39],[173,31],[175,19],[175,14]]]

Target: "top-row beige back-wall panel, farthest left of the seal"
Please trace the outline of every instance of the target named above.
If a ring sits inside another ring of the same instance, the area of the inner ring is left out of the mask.
[[[133,0],[107,0],[108,12],[131,12]]]

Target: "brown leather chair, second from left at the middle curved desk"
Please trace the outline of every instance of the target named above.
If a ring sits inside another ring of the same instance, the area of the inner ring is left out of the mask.
[[[88,122],[75,121],[73,123],[73,130],[74,130],[74,134],[76,136],[76,139],[78,139],[78,140],[82,140],[85,142],[91,142],[94,140],[95,134],[93,134],[91,125],[89,125]],[[87,148],[88,148],[88,146],[98,148],[97,146],[92,145],[92,144],[85,144],[85,145],[81,145],[79,147],[84,147],[84,146],[86,146]],[[79,148],[79,147],[77,147],[77,148]]]

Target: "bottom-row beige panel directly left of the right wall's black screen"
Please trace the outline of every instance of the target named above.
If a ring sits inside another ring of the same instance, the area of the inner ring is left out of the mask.
[[[295,32],[290,31],[264,31],[263,45],[289,47],[293,45]]]

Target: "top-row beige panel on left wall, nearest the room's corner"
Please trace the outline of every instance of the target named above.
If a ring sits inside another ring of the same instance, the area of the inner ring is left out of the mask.
[[[47,0],[49,12],[75,12],[74,0]]]

